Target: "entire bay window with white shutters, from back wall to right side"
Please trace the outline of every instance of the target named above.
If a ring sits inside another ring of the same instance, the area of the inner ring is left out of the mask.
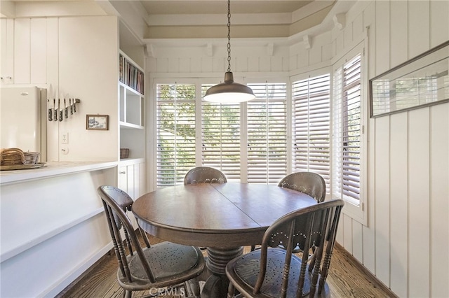
[[[156,83],[156,186],[182,183],[194,166],[243,183],[312,171],[328,197],[346,200],[344,212],[365,222],[362,52],[334,64],[332,88],[326,72],[291,85],[250,83],[256,98],[241,104],[203,101],[212,85],[201,78]]]

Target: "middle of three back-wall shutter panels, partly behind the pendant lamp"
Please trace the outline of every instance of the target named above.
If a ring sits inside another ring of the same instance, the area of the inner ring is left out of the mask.
[[[202,86],[202,96],[209,87]],[[228,181],[240,180],[240,104],[201,105],[201,164],[220,169]]]

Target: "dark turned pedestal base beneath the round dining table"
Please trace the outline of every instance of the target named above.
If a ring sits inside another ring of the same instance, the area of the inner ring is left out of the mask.
[[[243,246],[234,248],[207,248],[208,257],[206,267],[210,276],[206,279],[206,284],[201,291],[201,298],[227,297],[227,287],[229,280],[226,276],[226,265],[243,254]]]

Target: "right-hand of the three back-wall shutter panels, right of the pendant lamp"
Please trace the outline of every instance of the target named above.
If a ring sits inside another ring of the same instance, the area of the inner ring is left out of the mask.
[[[248,84],[248,183],[276,184],[287,173],[285,83]]]

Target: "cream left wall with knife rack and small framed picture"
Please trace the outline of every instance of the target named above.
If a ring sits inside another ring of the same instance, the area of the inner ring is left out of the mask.
[[[47,160],[118,160],[117,17],[18,17],[0,28],[2,85],[46,88],[51,107],[53,98],[81,100],[74,115],[47,121]],[[86,130],[86,114],[109,115],[109,131]]]

